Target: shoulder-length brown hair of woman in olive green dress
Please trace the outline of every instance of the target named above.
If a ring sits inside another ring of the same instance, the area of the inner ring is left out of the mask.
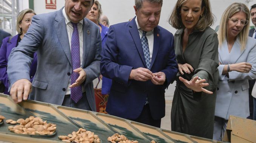
[[[185,28],[181,20],[180,11],[182,5],[187,1],[188,0],[178,0],[169,18],[169,24],[176,29]],[[209,0],[202,0],[201,9],[203,8],[204,13],[202,14],[202,17],[200,16],[195,26],[195,29],[199,31],[204,31],[207,27],[212,26],[214,22],[214,16],[211,13],[211,5]]]

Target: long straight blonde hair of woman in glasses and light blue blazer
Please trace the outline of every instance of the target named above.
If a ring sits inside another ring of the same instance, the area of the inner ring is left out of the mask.
[[[241,32],[237,35],[237,38],[239,39],[241,45],[241,50],[245,49],[250,27],[250,11],[243,3],[233,3],[228,6],[228,8],[224,11],[221,17],[221,23],[218,31],[219,47],[221,47],[222,43],[228,39],[228,18],[232,17],[234,14],[240,11],[245,13],[246,20],[248,20],[247,25],[244,26]]]

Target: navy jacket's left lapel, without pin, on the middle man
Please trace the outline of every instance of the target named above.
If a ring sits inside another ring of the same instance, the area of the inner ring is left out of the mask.
[[[133,18],[133,20],[130,21],[129,26],[131,27],[131,29],[129,31],[130,31],[130,34],[131,34],[131,36],[133,38],[133,41],[136,45],[136,48],[139,52],[140,59],[142,60],[142,62],[144,64],[144,67],[147,67],[146,60],[145,60],[144,53],[143,53],[142,44],[141,44],[141,41],[140,41],[140,35],[139,35],[138,27],[137,27],[136,22],[135,22],[135,18]]]

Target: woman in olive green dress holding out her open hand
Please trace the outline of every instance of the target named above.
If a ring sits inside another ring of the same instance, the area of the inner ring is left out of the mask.
[[[171,108],[172,131],[213,138],[218,39],[210,0],[178,0],[169,23],[179,72]]]

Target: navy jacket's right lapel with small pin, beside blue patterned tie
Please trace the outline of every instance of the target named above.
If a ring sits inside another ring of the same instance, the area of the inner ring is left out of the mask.
[[[153,46],[153,54],[152,54],[152,59],[151,59],[151,65],[150,69],[152,68],[155,60],[156,60],[156,55],[158,53],[159,47],[160,47],[160,32],[158,27],[154,29],[154,46]]]

